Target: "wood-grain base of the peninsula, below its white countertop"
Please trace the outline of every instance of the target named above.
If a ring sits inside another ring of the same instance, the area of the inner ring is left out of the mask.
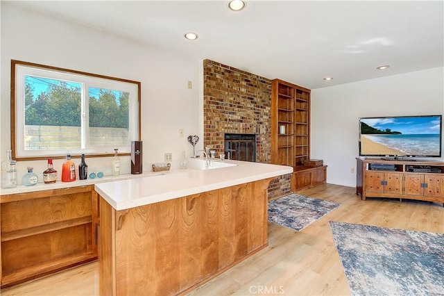
[[[100,198],[100,294],[186,293],[266,247],[270,181],[123,211]]]

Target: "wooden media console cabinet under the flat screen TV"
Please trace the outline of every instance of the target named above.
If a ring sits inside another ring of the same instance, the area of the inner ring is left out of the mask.
[[[444,206],[444,163],[386,161],[357,158],[356,192],[367,197],[389,197],[441,202]]]

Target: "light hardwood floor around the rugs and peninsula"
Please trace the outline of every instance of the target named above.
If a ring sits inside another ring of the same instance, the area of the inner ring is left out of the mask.
[[[268,247],[190,295],[349,295],[330,220],[444,233],[442,204],[398,199],[361,201],[355,188],[327,184],[300,192],[341,206],[302,231],[268,223]],[[98,295],[98,264],[4,288],[1,295]]]

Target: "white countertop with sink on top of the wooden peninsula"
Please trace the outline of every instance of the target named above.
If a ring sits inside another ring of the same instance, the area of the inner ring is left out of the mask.
[[[198,167],[199,162],[205,163],[204,160],[189,159],[187,167]],[[218,163],[221,162],[215,161],[214,164]],[[234,166],[212,170],[171,170],[140,178],[97,183],[95,190],[120,211],[293,172],[293,167],[284,165],[228,160],[223,163]]]

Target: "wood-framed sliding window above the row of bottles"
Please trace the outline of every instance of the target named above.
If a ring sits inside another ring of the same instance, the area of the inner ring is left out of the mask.
[[[12,60],[17,160],[130,154],[140,138],[140,83]]]

